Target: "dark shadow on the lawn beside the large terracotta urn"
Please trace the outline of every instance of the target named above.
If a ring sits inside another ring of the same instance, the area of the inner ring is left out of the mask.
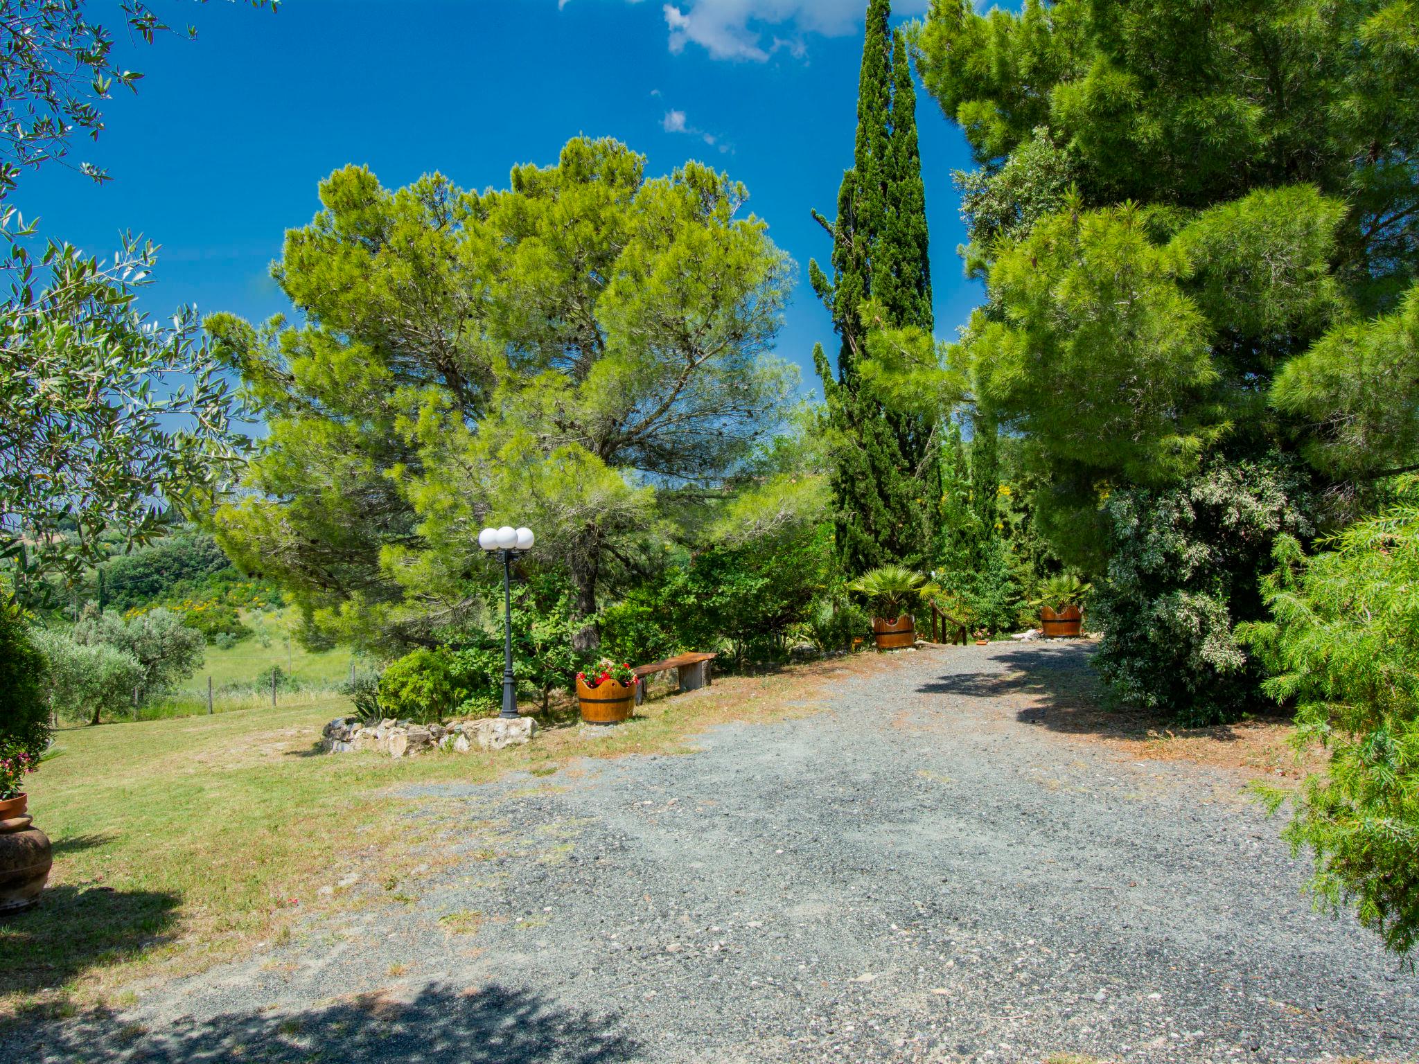
[[[68,843],[78,844],[88,837]],[[0,918],[0,993],[50,990],[91,966],[159,946],[172,939],[177,905],[166,891],[48,887],[34,908]]]

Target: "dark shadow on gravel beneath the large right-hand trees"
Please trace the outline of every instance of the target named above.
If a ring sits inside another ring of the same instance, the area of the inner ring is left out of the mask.
[[[1240,738],[1239,725],[1183,728],[1155,709],[1118,705],[1090,664],[1093,643],[1020,643],[1005,647],[1000,672],[944,675],[918,688],[922,694],[1006,699],[1020,724],[1043,725],[1067,735],[1152,742],[1162,736],[1196,736],[1218,742]],[[1288,715],[1260,708],[1249,721],[1284,722]]]

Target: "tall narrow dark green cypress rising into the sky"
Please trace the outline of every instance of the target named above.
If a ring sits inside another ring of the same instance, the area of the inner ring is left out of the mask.
[[[931,512],[941,495],[932,424],[891,413],[861,384],[873,299],[887,325],[929,332],[925,187],[917,145],[917,95],[904,37],[888,28],[890,0],[871,0],[857,95],[853,169],[843,174],[833,235],[833,279],[809,264],[841,346],[834,380],[822,345],[813,352],[829,423],[839,441],[832,472],[837,552],[850,573],[885,562],[920,566],[929,555]]]

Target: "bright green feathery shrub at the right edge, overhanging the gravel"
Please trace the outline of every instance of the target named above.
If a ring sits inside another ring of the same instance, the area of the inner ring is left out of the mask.
[[[1290,799],[1286,838],[1315,854],[1313,890],[1354,902],[1361,924],[1405,955],[1419,942],[1419,484],[1304,558],[1281,538],[1266,582],[1274,614],[1243,628],[1294,702],[1300,748],[1330,750],[1325,775]]]

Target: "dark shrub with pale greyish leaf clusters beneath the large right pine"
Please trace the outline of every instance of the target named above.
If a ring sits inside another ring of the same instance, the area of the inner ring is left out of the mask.
[[[1216,460],[1179,487],[1110,495],[1112,556],[1090,606],[1114,694],[1186,725],[1253,705],[1264,677],[1233,628],[1264,616],[1271,546],[1311,533],[1305,511],[1303,474],[1277,458]]]

